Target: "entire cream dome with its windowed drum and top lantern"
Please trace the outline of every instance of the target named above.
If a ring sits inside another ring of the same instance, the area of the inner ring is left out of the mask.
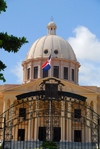
[[[23,83],[44,77],[56,77],[78,84],[80,64],[70,44],[56,35],[54,22],[47,25],[47,36],[37,39],[29,49],[23,66]],[[51,71],[44,71],[42,65],[51,54]]]

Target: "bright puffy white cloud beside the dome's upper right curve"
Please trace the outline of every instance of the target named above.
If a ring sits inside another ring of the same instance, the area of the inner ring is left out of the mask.
[[[77,58],[100,62],[100,41],[84,26],[78,26],[75,37],[69,37],[68,41],[73,47]]]

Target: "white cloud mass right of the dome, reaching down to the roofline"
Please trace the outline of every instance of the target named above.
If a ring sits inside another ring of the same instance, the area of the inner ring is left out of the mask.
[[[78,26],[68,41],[81,64],[79,84],[100,86],[100,41],[84,26]]]

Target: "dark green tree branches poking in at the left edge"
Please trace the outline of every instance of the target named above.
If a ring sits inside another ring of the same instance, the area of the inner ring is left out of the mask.
[[[1,14],[1,11],[5,12],[6,8],[7,8],[6,2],[4,0],[0,0],[0,14]],[[25,43],[28,43],[25,37],[18,38],[13,35],[8,35],[7,32],[0,33],[0,48],[3,48],[5,51],[16,53],[19,51],[21,46]],[[3,82],[5,82],[6,80],[4,78],[3,73],[1,73],[1,71],[4,71],[6,67],[7,66],[0,60],[0,80],[3,80]]]

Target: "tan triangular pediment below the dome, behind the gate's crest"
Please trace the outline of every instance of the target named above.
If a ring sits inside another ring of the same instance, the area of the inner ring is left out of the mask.
[[[52,78],[54,78],[54,77],[52,77]],[[26,93],[26,92],[31,92],[31,91],[38,91],[38,90],[40,90],[39,84],[41,82],[43,82],[43,80],[45,80],[45,79],[47,79],[47,78],[38,79],[33,82],[29,82],[27,84],[22,84],[22,85],[13,87],[13,88],[9,88],[9,89],[4,90],[3,92]],[[58,79],[58,80],[60,80],[60,79]],[[64,80],[60,80],[60,81],[61,81],[61,83],[64,84],[64,86],[62,88],[63,91],[72,92],[72,93],[76,93],[76,94],[87,94],[87,93],[99,94],[98,92],[96,92],[92,89],[87,89],[85,87],[81,87],[79,85],[76,85],[76,84],[73,84],[73,83],[70,83],[70,82],[67,82]]]

